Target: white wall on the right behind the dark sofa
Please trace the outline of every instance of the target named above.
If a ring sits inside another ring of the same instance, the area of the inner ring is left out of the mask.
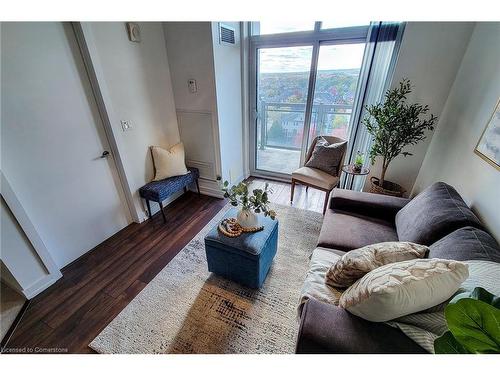
[[[414,193],[435,181],[454,186],[500,241],[500,172],[474,148],[500,97],[500,23],[477,23]]]

